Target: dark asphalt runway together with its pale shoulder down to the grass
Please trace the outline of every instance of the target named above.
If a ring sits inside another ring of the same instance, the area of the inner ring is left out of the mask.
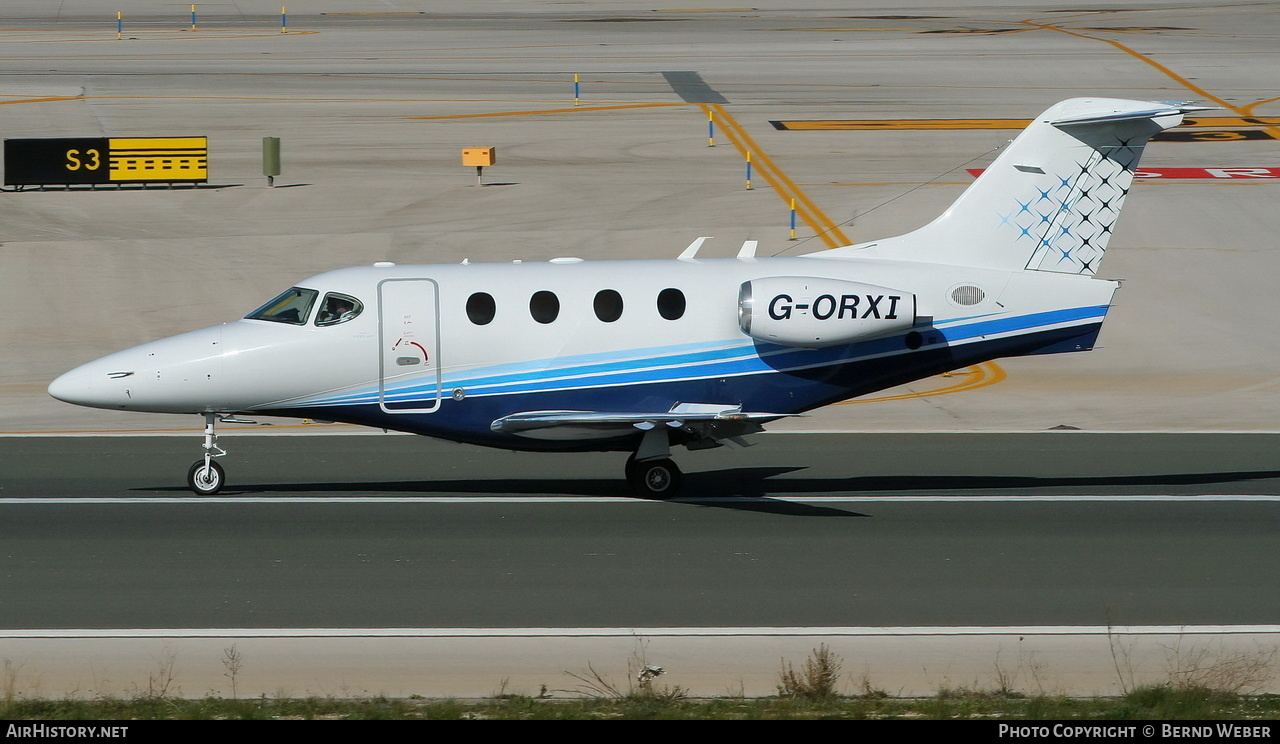
[[[768,694],[827,643],[929,694],[993,663],[1107,691],[1117,643],[1158,676],[1280,638],[1280,435],[756,441],[682,457],[684,496],[650,502],[604,455],[233,434],[230,487],[196,498],[196,437],[0,438],[0,656],[223,689],[234,645],[266,693],[485,695],[643,651]]]

